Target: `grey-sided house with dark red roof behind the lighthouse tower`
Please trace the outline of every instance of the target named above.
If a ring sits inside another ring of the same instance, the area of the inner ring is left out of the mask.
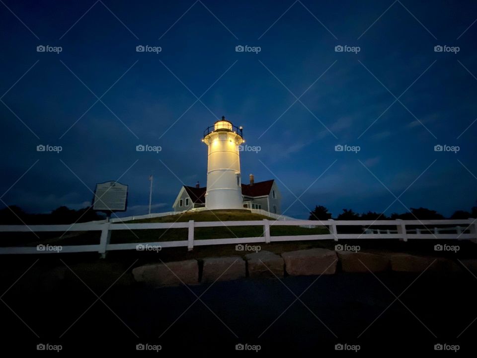
[[[243,207],[249,209],[263,209],[275,214],[281,213],[281,195],[275,180],[255,182],[250,174],[250,182],[241,184]],[[190,210],[205,206],[207,187],[183,185],[172,205],[174,211]]]

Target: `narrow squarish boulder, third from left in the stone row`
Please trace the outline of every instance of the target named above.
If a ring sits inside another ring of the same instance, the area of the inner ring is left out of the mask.
[[[270,251],[245,255],[249,277],[283,277],[283,258]]]

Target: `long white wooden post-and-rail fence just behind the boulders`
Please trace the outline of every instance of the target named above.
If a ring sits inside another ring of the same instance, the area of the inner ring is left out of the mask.
[[[325,226],[329,233],[315,235],[293,235],[293,236],[271,236],[270,227],[272,226]],[[442,225],[453,225],[452,228],[439,228]],[[260,237],[242,237],[228,239],[205,239],[194,240],[194,229],[203,227],[234,227],[234,226],[262,226],[263,236]],[[338,226],[395,226],[396,230],[382,230],[380,233],[369,233],[364,230],[362,233],[338,234]],[[415,228],[406,228],[406,226],[420,226],[420,232]],[[145,230],[145,229],[179,229],[187,228],[187,238],[177,241],[161,242],[143,242],[143,243],[124,243],[111,244],[109,242],[111,232],[114,230]],[[454,231],[455,233],[441,233],[441,230]],[[477,242],[477,220],[256,220],[256,221],[213,221],[213,222],[175,222],[175,223],[81,223],[73,225],[0,225],[0,232],[72,232],[72,231],[100,231],[101,236],[99,244],[95,245],[61,245],[61,250],[54,251],[48,248],[48,245],[41,246],[15,246],[0,247],[0,254],[45,254],[45,253],[78,253],[78,252],[98,252],[105,255],[108,251],[114,250],[144,250],[145,248],[168,248],[168,247],[187,247],[192,250],[194,246],[203,245],[225,245],[225,244],[246,244],[246,243],[270,243],[281,241],[300,241],[300,240],[334,240],[340,239],[399,239],[402,241],[413,239],[458,239],[471,240]],[[67,239],[65,239],[67,240]],[[45,244],[47,241],[45,241]],[[36,243],[35,243],[36,244]],[[43,247],[43,249],[42,249]]]

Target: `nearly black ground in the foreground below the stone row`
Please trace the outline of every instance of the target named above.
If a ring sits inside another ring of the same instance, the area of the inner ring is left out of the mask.
[[[21,276],[35,260],[10,263],[15,274],[2,265],[3,353],[35,354],[38,344],[61,345],[60,354],[68,355],[139,356],[138,344],[160,345],[158,355],[167,356],[255,354],[236,351],[238,344],[259,345],[258,354],[297,356],[339,354],[336,344],[381,354],[434,355],[436,344],[459,345],[458,354],[477,348],[477,277],[467,270],[341,272],[155,289],[131,282],[129,273],[117,280],[113,271],[99,283],[67,269],[60,283],[48,285],[38,264]]]

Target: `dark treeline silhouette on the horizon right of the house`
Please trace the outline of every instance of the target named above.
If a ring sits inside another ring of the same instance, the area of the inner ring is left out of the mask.
[[[387,216],[384,213],[377,213],[374,211],[368,211],[367,213],[359,214],[354,212],[351,209],[343,209],[343,212],[340,213],[334,219],[336,220],[439,220],[439,219],[468,219],[468,218],[477,218],[477,206],[474,206],[471,211],[457,210],[449,218],[444,217],[444,215],[439,214],[435,210],[430,210],[427,208],[410,208],[410,212],[397,214],[393,213],[391,216]],[[328,220],[331,219],[331,213],[328,209],[322,205],[315,206],[315,209],[310,212],[309,220]]]

